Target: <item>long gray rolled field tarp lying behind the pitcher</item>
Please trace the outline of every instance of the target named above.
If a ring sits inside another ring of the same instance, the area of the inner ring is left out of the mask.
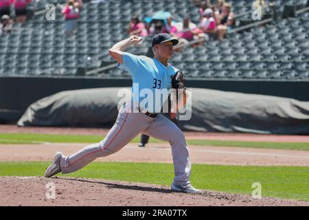
[[[117,96],[119,89],[62,91],[31,104],[17,124],[111,126],[123,98]],[[192,118],[180,121],[186,131],[309,134],[309,102],[197,88],[190,97]]]

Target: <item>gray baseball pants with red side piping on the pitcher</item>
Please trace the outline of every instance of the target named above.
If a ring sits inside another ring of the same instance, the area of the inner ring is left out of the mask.
[[[126,146],[130,140],[144,133],[159,140],[168,141],[172,146],[172,159],[174,163],[174,184],[189,184],[191,173],[190,155],[183,132],[170,120],[158,114],[150,118],[144,113],[131,113],[131,104],[120,109],[117,120],[104,140],[91,144],[82,150],[62,157],[60,166],[62,173],[71,173],[83,168],[97,157],[106,157],[116,153]]]

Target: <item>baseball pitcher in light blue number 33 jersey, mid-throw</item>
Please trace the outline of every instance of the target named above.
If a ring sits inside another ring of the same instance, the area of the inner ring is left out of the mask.
[[[168,118],[161,115],[162,103],[168,97],[163,96],[158,101],[150,96],[140,96],[143,91],[157,94],[163,89],[183,89],[183,74],[168,63],[173,55],[173,46],[179,41],[168,34],[157,34],[152,39],[154,58],[135,56],[125,52],[130,45],[137,45],[142,40],[139,36],[130,36],[111,47],[110,55],[119,63],[119,68],[126,70],[133,79],[133,98],[124,104],[117,116],[117,120],[104,140],[91,144],[72,155],[61,152],[54,155],[52,164],[45,170],[45,177],[52,177],[57,173],[71,173],[87,166],[97,157],[106,157],[116,153],[126,146],[130,140],[144,133],[150,137],[167,141],[172,146],[174,162],[174,181],[172,190],[176,192],[201,193],[190,183],[191,162],[183,132]],[[165,100],[164,100],[165,99]],[[183,93],[181,99],[186,99]],[[147,104],[141,104],[147,103]],[[185,103],[180,102],[180,103]],[[179,106],[181,107],[181,105]]]

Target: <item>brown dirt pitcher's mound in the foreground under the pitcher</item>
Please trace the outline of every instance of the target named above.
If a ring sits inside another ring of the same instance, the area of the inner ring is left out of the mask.
[[[0,177],[0,185],[0,206],[309,206],[304,201],[206,190],[192,195],[168,186],[102,179]]]

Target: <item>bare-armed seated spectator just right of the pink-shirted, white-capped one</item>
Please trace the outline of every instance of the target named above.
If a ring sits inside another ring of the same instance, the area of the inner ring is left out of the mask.
[[[231,26],[234,25],[235,19],[233,18],[234,14],[231,12],[231,5],[225,3],[222,8],[222,13],[218,15],[219,25],[217,28],[218,40],[221,41],[224,39],[225,34],[231,30]]]

